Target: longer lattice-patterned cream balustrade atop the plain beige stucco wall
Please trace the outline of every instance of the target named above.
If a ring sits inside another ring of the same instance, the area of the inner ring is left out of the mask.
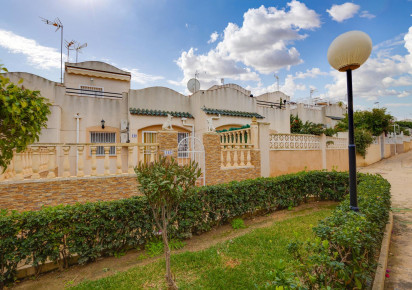
[[[320,150],[320,136],[305,134],[270,134],[270,150]]]

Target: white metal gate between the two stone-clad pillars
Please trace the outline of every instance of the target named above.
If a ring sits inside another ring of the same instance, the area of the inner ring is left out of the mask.
[[[196,161],[202,170],[202,174],[197,181],[199,185],[206,184],[205,147],[198,138],[186,137],[179,142],[177,145],[177,161],[179,165]]]

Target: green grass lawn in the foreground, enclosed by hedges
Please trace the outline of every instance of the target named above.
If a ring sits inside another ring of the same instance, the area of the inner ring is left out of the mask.
[[[199,252],[172,256],[172,271],[181,289],[253,289],[274,280],[273,270],[282,259],[288,270],[293,262],[288,243],[313,237],[311,227],[331,214],[331,206],[305,216],[275,222],[233,240]],[[166,288],[164,259],[96,281],[85,281],[74,289]]]

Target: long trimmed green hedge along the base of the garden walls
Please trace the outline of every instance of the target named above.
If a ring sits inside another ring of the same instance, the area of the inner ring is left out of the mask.
[[[205,186],[181,205],[170,229],[185,238],[248,214],[296,206],[314,196],[342,200],[348,174],[310,171]],[[137,248],[153,238],[154,222],[145,197],[43,208],[31,212],[0,211],[0,286],[15,277],[24,262],[40,270],[47,260],[66,267]]]

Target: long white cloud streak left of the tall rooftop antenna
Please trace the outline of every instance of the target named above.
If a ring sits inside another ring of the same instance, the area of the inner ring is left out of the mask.
[[[25,55],[30,65],[42,69],[60,68],[60,52],[55,48],[40,45],[33,39],[0,29],[0,46],[10,53]],[[65,58],[63,55],[63,59]]]

